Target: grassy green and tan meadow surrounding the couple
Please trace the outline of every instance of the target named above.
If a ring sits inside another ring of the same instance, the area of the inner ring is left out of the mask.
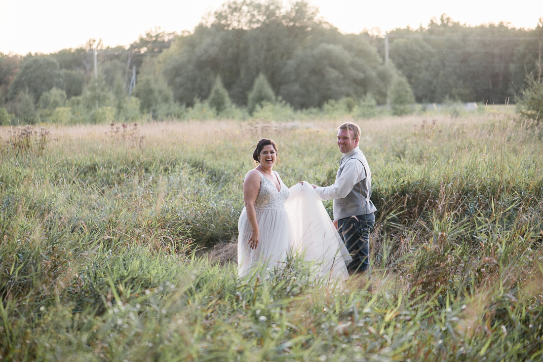
[[[0,360],[542,359],[543,130],[512,107],[356,121],[372,293],[238,280],[256,142],[328,185],[344,120],[0,128]]]

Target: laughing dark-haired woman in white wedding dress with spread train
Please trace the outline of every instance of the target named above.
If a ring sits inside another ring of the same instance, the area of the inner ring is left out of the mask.
[[[313,187],[300,182],[289,190],[273,170],[278,150],[261,139],[252,154],[258,166],[245,175],[245,207],[238,221],[238,275],[258,266],[282,268],[294,253],[310,262],[316,277],[349,277],[351,257]]]

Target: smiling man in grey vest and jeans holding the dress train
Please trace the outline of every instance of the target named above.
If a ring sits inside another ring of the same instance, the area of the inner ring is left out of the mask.
[[[338,127],[337,142],[343,154],[331,186],[311,185],[321,200],[334,199],[334,224],[352,256],[349,274],[364,274],[369,269],[369,233],[377,210],[370,200],[371,172],[368,161],[358,148],[360,127],[344,123]],[[371,278],[369,272],[368,278]],[[371,289],[371,284],[369,286]]]

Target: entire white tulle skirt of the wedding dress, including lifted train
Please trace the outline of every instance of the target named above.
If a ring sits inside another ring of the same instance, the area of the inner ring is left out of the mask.
[[[325,278],[328,282],[349,278],[346,264],[352,258],[323,202],[308,182],[290,188],[284,208],[255,210],[260,229],[256,249],[251,250],[248,245],[251,226],[245,208],[238,221],[240,277],[255,267],[282,268],[290,253],[307,262],[315,278]]]

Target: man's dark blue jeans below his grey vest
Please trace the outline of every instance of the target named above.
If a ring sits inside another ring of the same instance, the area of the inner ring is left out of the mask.
[[[356,215],[338,220],[338,233],[343,239],[352,262],[347,269],[352,272],[365,272],[370,265],[370,232],[375,225],[375,214]]]

